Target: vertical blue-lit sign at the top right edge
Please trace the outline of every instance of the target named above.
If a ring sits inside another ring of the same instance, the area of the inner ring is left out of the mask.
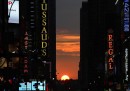
[[[124,31],[129,31],[129,0],[124,0]]]

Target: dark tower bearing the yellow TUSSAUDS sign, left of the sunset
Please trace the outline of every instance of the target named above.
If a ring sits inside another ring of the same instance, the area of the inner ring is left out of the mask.
[[[27,27],[22,30],[28,33],[28,38],[32,39],[28,40],[28,45],[30,45],[28,49],[35,52],[32,56],[32,65],[38,63],[35,67],[37,70],[42,69],[41,73],[44,73],[43,65],[46,66],[46,72],[49,75],[51,73],[51,79],[56,79],[55,0],[23,0],[21,1],[20,10],[21,25],[26,24],[24,26]],[[30,68],[32,69],[31,74],[35,73],[34,70],[36,69],[34,67]]]

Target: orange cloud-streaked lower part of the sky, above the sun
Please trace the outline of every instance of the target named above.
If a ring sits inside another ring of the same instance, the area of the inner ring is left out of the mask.
[[[80,36],[57,34],[57,78],[68,75],[72,79],[78,78]]]

